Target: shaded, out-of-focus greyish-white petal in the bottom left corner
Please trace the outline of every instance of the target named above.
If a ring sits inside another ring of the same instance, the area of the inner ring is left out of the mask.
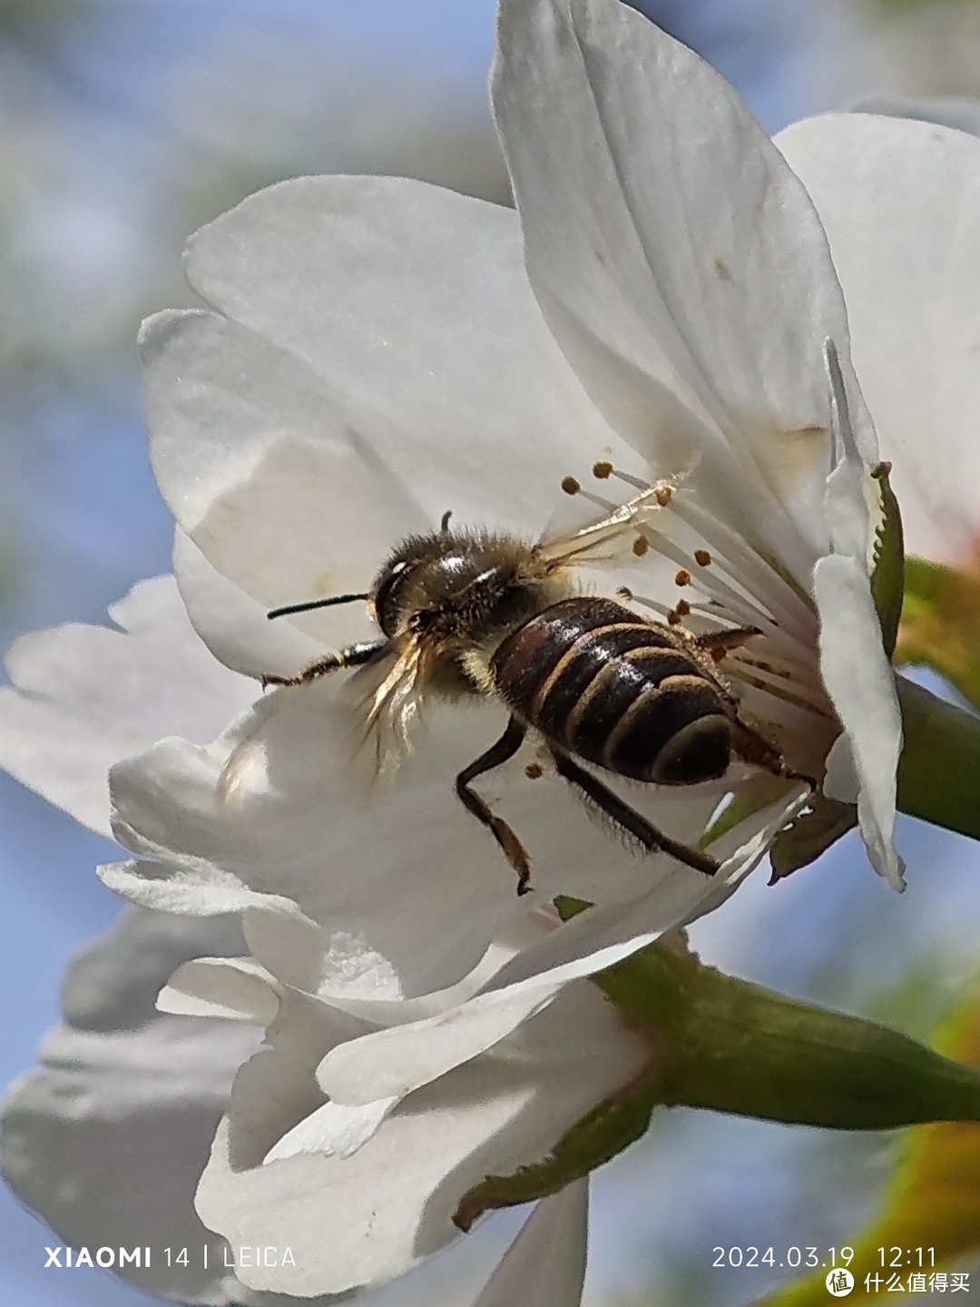
[[[243,1293],[222,1266],[223,1242],[195,1216],[193,1191],[234,1070],[259,1036],[157,1016],[153,999],[187,957],[234,948],[234,921],[131,914],[73,959],[64,987],[71,1023],[46,1036],[41,1068],[3,1107],[4,1175],[54,1227],[48,1242],[150,1246],[149,1266],[118,1273],[180,1302],[223,1304]],[[167,1266],[157,1255],[166,1246],[199,1256]]]

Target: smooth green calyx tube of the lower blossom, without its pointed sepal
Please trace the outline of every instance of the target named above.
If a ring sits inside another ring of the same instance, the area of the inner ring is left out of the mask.
[[[980,1073],[861,1017],[723,975],[662,944],[596,978],[656,1031],[665,1104],[889,1129],[980,1120]]]

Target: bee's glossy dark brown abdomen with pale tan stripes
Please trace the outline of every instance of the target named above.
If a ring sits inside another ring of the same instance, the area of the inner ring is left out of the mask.
[[[608,599],[566,599],[507,637],[490,670],[549,741],[661,786],[721,776],[732,725],[719,687],[669,627]]]

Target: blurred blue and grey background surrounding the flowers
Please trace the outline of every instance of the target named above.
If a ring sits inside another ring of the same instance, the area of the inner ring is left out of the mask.
[[[720,68],[770,129],[868,94],[980,94],[968,0],[636,8]],[[507,203],[485,90],[493,24],[493,0],[0,0],[4,646],[103,621],[169,569],[133,341],[148,312],[191,303],[188,233],[302,173],[408,174]],[[93,874],[107,844],[3,775],[0,806],[7,1082],[57,1019],[67,957],[120,903]],[[695,944],[723,968],[926,1034],[977,970],[980,860],[911,821],[900,840],[913,869],[902,899],[848,838],[777,889],[750,884]],[[712,1249],[851,1242],[892,1149],[664,1114],[597,1178],[589,1307],[747,1302],[777,1272],[713,1268]],[[103,1272],[44,1272],[46,1240],[0,1195],[4,1302],[149,1302]],[[434,1302],[449,1300],[456,1266],[476,1274],[451,1253]]]

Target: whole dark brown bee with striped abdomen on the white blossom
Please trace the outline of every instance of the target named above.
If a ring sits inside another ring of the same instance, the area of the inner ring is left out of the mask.
[[[725,654],[760,634],[758,627],[693,635],[576,592],[575,569],[609,562],[623,542],[635,545],[665,493],[661,484],[580,531],[537,544],[449,529],[446,514],[439,531],[412,536],[391,554],[370,591],[273,609],[269,618],[367,600],[380,637],[263,684],[306,685],[355,669],[350,690],[379,771],[409,750],[426,695],[502,702],[506,731],[455,786],[516,872],[519,894],[531,887],[528,851],[473,782],[512,758],[528,732],[614,827],[648,852],[712,876],[717,859],[672,839],[581,766],[656,786],[717,780],[733,758],[794,776],[779,750],[740,719],[719,672]]]

